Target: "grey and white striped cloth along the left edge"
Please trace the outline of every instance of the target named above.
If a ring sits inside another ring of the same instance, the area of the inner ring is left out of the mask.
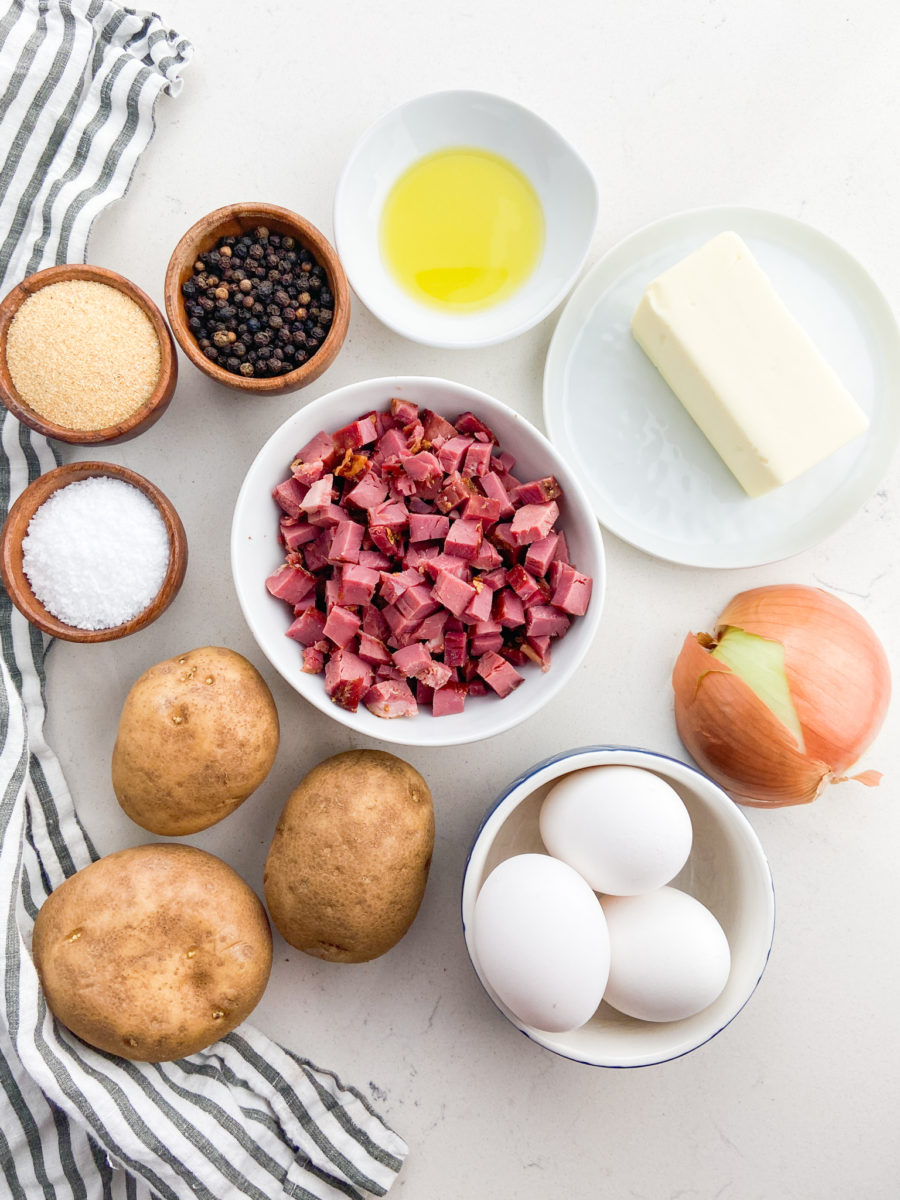
[[[13,0],[0,16],[0,294],[85,256],[127,188],[191,46],[108,0]],[[0,517],[55,464],[4,410]],[[407,1147],[335,1075],[244,1025],[179,1062],[94,1050],[47,1010],[35,914],[96,858],[43,737],[42,635],[0,595],[0,1195],[230,1200],[383,1195]]]

